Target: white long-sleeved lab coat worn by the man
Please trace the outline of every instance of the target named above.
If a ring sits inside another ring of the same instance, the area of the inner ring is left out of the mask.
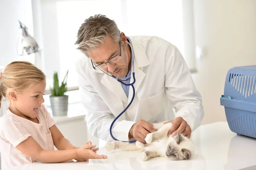
[[[186,120],[192,131],[195,130],[204,116],[201,95],[180,51],[159,37],[129,38],[135,54],[136,94],[130,108],[115,122],[113,136],[128,141],[129,130],[140,119],[154,123],[177,116]],[[77,62],[76,70],[81,102],[87,109],[88,129],[93,136],[113,141],[110,125],[131,101],[132,88],[127,97],[121,83],[100,70],[94,70],[88,57]]]

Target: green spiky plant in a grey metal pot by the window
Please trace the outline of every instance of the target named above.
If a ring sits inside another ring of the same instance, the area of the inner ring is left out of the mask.
[[[50,102],[53,116],[67,115],[68,96],[65,95],[67,92],[67,73],[60,86],[58,81],[58,73],[55,72],[53,74],[53,88],[50,87]]]

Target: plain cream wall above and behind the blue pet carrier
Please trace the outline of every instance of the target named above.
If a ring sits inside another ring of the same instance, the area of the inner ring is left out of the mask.
[[[227,71],[256,65],[256,0],[194,0],[195,45],[206,48],[193,75],[202,94],[202,124],[227,121],[220,105]]]

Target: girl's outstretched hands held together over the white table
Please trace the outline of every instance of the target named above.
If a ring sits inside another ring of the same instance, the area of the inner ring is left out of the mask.
[[[92,145],[92,143],[89,141],[84,146],[76,149],[76,155],[77,155],[76,160],[87,161],[88,159],[108,159],[108,157],[105,155],[96,154],[96,151],[99,150],[99,148],[94,148],[94,147],[96,147],[96,145]]]

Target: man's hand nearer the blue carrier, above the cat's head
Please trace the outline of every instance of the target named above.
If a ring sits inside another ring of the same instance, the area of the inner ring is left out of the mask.
[[[186,137],[190,138],[192,130],[182,117],[177,117],[176,119],[169,122],[171,122],[173,125],[168,132],[168,136],[172,134],[172,137],[174,137],[177,135],[177,133],[182,133]],[[168,122],[164,122],[164,124],[166,123]]]

